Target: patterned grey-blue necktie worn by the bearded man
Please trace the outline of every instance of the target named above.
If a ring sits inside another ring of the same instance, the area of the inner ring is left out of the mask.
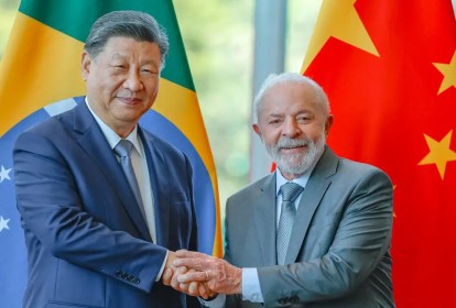
[[[293,229],[296,207],[294,200],[303,191],[303,187],[296,183],[289,182],[281,186],[282,210],[280,213],[279,228],[276,234],[278,264],[285,264],[286,251],[289,249],[290,237]]]

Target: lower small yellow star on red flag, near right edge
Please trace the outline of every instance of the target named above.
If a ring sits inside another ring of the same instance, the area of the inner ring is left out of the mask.
[[[445,176],[446,163],[456,161],[456,152],[449,148],[453,130],[449,131],[439,142],[424,134],[430,153],[424,157],[419,165],[435,164],[442,179]]]

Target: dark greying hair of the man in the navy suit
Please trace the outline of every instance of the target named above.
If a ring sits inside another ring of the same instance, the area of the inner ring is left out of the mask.
[[[102,52],[110,37],[124,36],[138,42],[151,42],[159,45],[164,68],[170,48],[167,35],[156,20],[139,11],[113,11],[100,16],[91,26],[84,50],[93,57]]]

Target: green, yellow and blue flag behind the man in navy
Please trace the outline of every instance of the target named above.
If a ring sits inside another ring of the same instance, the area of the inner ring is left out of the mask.
[[[14,198],[12,146],[31,125],[85,95],[80,55],[91,24],[116,10],[153,15],[170,53],[153,109],[141,119],[186,153],[194,168],[200,251],[221,255],[218,188],[184,44],[171,0],[23,0],[0,64],[0,306],[22,305],[26,252]]]

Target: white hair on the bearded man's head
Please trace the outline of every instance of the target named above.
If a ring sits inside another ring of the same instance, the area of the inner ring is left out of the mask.
[[[323,88],[317,82],[315,82],[313,79],[311,79],[307,76],[297,74],[297,73],[271,74],[264,79],[263,84],[261,85],[260,90],[254,97],[253,123],[258,123],[258,118],[261,112],[261,103],[262,103],[262,100],[264,99],[267,91],[276,85],[282,85],[286,82],[293,82],[293,84],[303,85],[303,86],[305,85],[311,86],[315,91],[315,102],[322,108],[325,117],[329,116],[330,110],[329,110],[328,98],[325,91],[323,90]]]

